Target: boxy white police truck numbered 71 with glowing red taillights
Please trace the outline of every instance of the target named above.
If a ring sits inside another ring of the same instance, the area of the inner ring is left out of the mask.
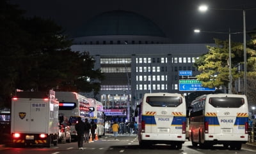
[[[59,102],[55,92],[16,92],[12,98],[11,134],[14,145],[58,144]]]

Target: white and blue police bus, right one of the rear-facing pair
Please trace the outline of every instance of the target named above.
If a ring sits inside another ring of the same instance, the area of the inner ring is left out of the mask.
[[[191,102],[189,138],[193,146],[241,150],[248,141],[248,102],[245,95],[209,94]]]

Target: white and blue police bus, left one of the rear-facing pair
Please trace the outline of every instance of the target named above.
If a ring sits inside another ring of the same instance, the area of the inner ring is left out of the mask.
[[[138,107],[138,139],[141,148],[161,143],[182,148],[186,140],[186,100],[183,95],[144,94]]]

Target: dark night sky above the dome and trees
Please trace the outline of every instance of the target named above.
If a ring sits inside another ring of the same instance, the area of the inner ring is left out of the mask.
[[[243,32],[243,9],[255,8],[256,0],[10,0],[26,10],[26,16],[51,18],[72,37],[83,25],[100,13],[113,10],[132,11],[152,20],[172,43],[214,43],[213,38],[228,39],[226,34],[202,32]],[[198,11],[200,4],[209,8],[241,9]],[[246,31],[256,28],[256,10],[246,10]],[[231,36],[243,42],[243,34]],[[248,37],[247,37],[248,39]]]

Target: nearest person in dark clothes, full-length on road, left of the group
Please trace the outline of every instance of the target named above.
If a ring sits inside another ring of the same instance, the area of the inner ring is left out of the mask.
[[[84,143],[84,129],[85,129],[85,124],[82,121],[82,118],[79,116],[77,118],[77,123],[75,125],[75,129],[77,132],[77,145],[79,150],[84,150],[83,148],[83,143]]]

